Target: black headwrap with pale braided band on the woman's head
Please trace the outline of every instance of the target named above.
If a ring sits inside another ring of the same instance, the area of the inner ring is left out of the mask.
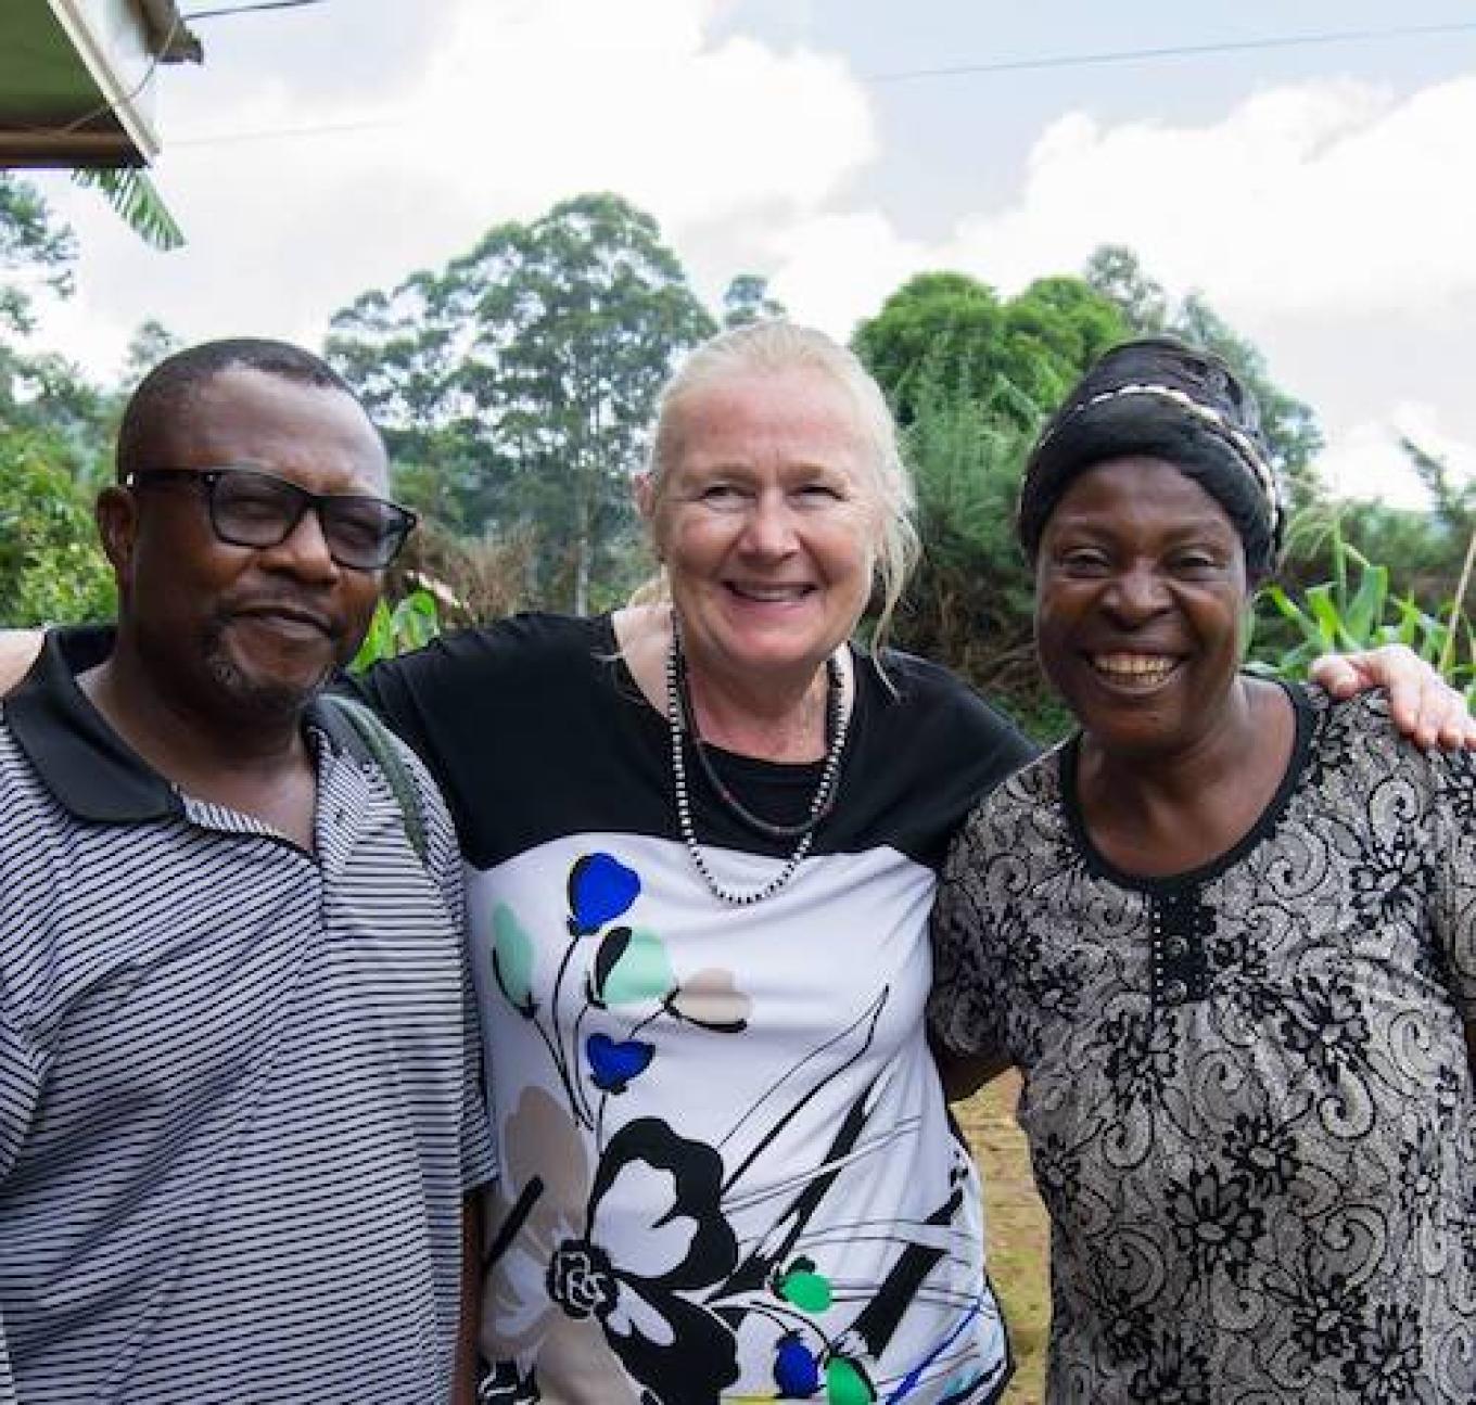
[[[1104,353],[1045,427],[1020,487],[1017,528],[1030,561],[1061,494],[1086,469],[1128,456],[1172,463],[1225,509],[1252,586],[1275,571],[1286,508],[1255,396],[1212,351],[1172,336]]]

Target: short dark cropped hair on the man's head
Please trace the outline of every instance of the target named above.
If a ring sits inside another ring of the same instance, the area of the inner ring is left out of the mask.
[[[294,347],[286,341],[270,341],[263,336],[229,336],[221,341],[205,341],[198,347],[176,351],[155,366],[128,397],[118,427],[117,468],[123,483],[136,469],[149,468],[149,444],[159,428],[180,415],[189,401],[215,376],[224,370],[258,370],[263,375],[280,376],[298,385],[316,385],[320,390],[348,396],[365,409],[354,388],[322,357]],[[369,412],[365,410],[365,418]],[[370,421],[372,424],[372,421]],[[378,434],[378,429],[375,431]],[[159,465],[171,468],[173,465]]]

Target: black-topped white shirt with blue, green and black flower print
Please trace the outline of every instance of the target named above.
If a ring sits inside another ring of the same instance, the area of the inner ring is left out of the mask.
[[[1030,747],[942,669],[863,663],[834,812],[794,883],[731,908],[618,652],[608,617],[520,615],[370,676],[466,859],[499,1150],[480,1399],[992,1405],[1010,1358],[924,1032],[927,915]],[[819,781],[713,760],[781,819]],[[791,840],[692,801],[720,881],[782,866]]]

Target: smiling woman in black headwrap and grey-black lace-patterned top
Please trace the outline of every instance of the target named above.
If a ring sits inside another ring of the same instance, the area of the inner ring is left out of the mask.
[[[1283,506],[1252,397],[1110,351],[1029,462],[1080,731],[934,909],[937,1043],[1018,1064],[1048,1399],[1476,1399],[1476,766],[1241,672]]]

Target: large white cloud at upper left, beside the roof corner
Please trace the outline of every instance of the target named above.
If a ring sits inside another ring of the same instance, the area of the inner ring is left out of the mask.
[[[94,195],[50,183],[87,255],[47,339],[99,372],[148,316],[192,339],[316,341],[357,292],[589,189],[618,190],[672,238],[803,218],[872,158],[866,99],[834,58],[708,43],[713,13],[713,0],[462,0],[381,106],[263,69],[223,75],[241,94],[223,112],[207,66],[173,93],[159,171],[186,249],[154,254]],[[220,140],[270,131],[300,134]]]

